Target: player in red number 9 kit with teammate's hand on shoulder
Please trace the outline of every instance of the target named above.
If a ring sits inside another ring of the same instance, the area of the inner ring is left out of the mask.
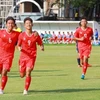
[[[44,46],[42,39],[36,31],[32,31],[33,21],[31,18],[27,17],[24,19],[25,32],[19,35],[18,39],[18,49],[20,50],[20,76],[25,78],[25,87],[23,94],[28,93],[28,89],[31,83],[31,72],[35,65],[37,47],[36,44],[40,45],[42,51],[44,51]]]

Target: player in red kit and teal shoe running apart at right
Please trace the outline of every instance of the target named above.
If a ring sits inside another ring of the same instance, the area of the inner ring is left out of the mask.
[[[88,58],[91,53],[91,37],[93,35],[93,30],[87,26],[87,19],[84,17],[81,19],[80,24],[81,26],[74,34],[74,40],[78,41],[79,55],[81,61],[83,61],[81,79],[84,79],[88,67]]]

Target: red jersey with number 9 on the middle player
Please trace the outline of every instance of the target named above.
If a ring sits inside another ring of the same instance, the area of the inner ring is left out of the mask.
[[[39,35],[35,35],[35,32],[28,36],[26,32],[19,35],[18,46],[21,46],[21,57],[33,58],[36,56],[37,47],[36,44],[42,45],[42,39]]]

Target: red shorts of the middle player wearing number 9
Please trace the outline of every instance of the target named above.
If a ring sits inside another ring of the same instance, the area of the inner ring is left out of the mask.
[[[26,72],[26,68],[29,67],[31,70],[33,70],[35,65],[36,57],[34,58],[20,58],[19,60],[19,66],[20,66],[20,72],[24,73]]]

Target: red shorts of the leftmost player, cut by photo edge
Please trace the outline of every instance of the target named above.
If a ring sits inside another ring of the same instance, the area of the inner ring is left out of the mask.
[[[8,72],[10,71],[12,66],[12,59],[12,57],[0,58],[0,72],[2,72],[2,69],[6,69]]]

